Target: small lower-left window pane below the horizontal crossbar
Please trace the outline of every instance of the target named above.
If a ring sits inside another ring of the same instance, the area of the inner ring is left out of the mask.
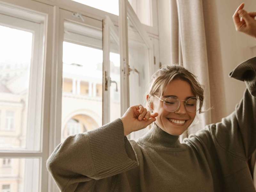
[[[39,191],[39,158],[0,158],[0,191]]]

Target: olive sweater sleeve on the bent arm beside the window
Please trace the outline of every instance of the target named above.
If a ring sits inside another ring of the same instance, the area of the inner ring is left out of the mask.
[[[124,136],[120,118],[93,131],[69,136],[47,160],[47,169],[61,191],[94,188],[106,179],[138,166],[132,146]],[[105,186],[106,187],[106,186]]]

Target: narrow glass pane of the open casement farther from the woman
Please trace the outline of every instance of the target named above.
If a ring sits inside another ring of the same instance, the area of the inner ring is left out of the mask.
[[[110,122],[121,117],[120,97],[120,55],[119,37],[112,30],[110,38],[110,77],[113,81],[110,86]]]

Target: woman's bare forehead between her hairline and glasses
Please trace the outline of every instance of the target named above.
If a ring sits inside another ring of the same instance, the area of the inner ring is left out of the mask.
[[[188,97],[195,97],[190,84],[187,81],[175,79],[170,82],[164,90],[163,98],[169,95],[176,95],[180,100],[186,100]],[[165,97],[164,97],[165,96]]]

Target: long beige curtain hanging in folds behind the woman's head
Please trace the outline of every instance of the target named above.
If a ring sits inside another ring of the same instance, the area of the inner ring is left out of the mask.
[[[214,0],[170,0],[171,63],[183,65],[204,85],[205,107],[214,108],[200,114],[199,123],[180,136],[217,123],[226,114],[222,61],[216,3]],[[228,76],[228,74],[226,74]],[[256,151],[248,161],[252,178],[256,177]],[[256,178],[254,179],[256,188]]]

